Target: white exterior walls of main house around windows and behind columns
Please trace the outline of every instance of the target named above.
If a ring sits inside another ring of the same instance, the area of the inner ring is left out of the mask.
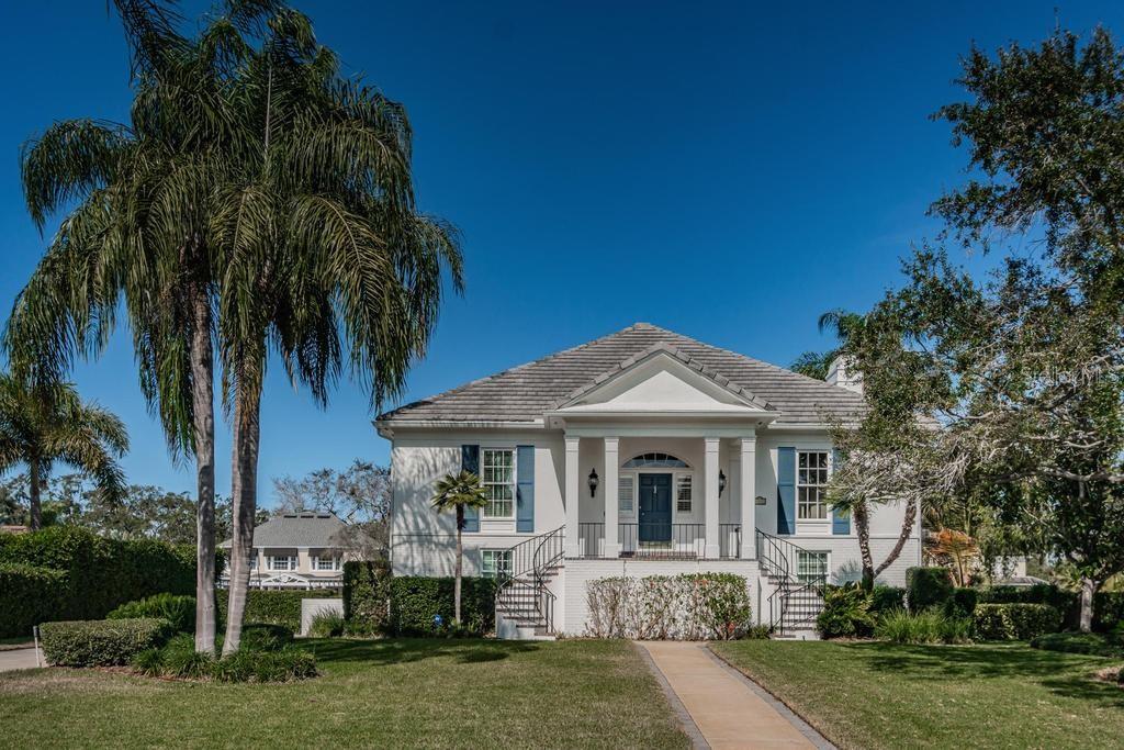
[[[391,519],[391,561],[397,575],[451,575],[454,564],[455,523],[451,514],[438,516],[429,505],[434,484],[444,475],[460,470],[461,445],[479,444],[481,446],[514,448],[516,445],[535,446],[535,534],[552,531],[565,523],[563,495],[563,476],[565,466],[565,446],[560,431],[398,431],[392,440],[392,519]],[[763,431],[756,442],[756,481],[754,496],[765,498],[764,505],[755,506],[756,526],[764,532],[774,534],[777,531],[777,449],[792,446],[797,450],[830,450],[831,443],[825,431],[818,432],[774,432]],[[699,437],[622,437],[618,458],[625,462],[632,457],[651,451],[671,453],[686,461],[695,469],[695,489],[692,509],[689,514],[676,512],[674,523],[704,523],[704,444]],[[604,482],[597,497],[590,498],[586,478],[590,469],[596,469],[599,477],[605,477],[604,442],[599,439],[582,439],[579,452],[579,503],[582,522],[604,521],[605,493]],[[732,498],[736,497],[734,480],[737,455],[733,444],[724,440],[719,449],[719,466],[725,471],[728,484],[726,491],[719,497],[719,522],[737,523],[740,508]],[[674,506],[674,504],[673,504]],[[896,506],[876,506],[871,515],[871,551],[876,564],[897,541],[900,532],[903,509]],[[622,523],[631,518],[622,517]],[[514,521],[481,521],[479,533],[464,535],[464,566],[468,575],[480,570],[480,551],[483,549],[506,549],[534,534],[515,532]],[[919,522],[914,524],[913,535],[903,549],[899,559],[880,576],[880,581],[901,586],[905,582],[905,570],[921,563]],[[851,533],[839,535],[832,533],[831,522],[822,524],[798,523],[797,534],[785,537],[788,541],[808,550],[830,553],[831,576],[833,580],[847,580],[856,577],[859,568],[859,545],[852,524]],[[596,561],[601,564],[602,561]],[[604,561],[616,575],[620,575],[622,561]],[[706,562],[707,569],[719,561]],[[725,563],[725,561],[722,561]],[[743,564],[729,561],[732,564]],[[595,564],[583,561],[582,564]],[[634,562],[633,566],[652,564],[651,561]],[[698,566],[698,562],[685,562],[686,566]],[[755,566],[753,566],[755,568]],[[613,573],[606,573],[613,575]],[[568,576],[565,586],[566,622],[579,615],[572,615],[575,596],[584,598],[583,585],[573,576]],[[580,593],[577,593],[579,591]]]

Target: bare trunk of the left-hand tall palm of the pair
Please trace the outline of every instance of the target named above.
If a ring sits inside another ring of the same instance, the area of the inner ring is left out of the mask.
[[[192,299],[191,413],[196,446],[196,651],[215,653],[215,364],[210,305]]]

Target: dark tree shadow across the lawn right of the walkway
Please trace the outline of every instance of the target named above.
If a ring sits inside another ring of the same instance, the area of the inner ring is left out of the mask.
[[[912,679],[1022,679],[1039,683],[1059,695],[1124,707],[1124,690],[1093,677],[1094,671],[1108,666],[1111,659],[1041,651],[1022,644],[851,643],[844,648],[859,653],[871,669]]]

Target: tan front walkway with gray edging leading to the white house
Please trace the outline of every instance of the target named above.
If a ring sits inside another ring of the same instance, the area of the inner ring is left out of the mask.
[[[683,723],[688,734],[694,735],[696,748],[832,747],[783,704],[710,653],[705,644],[645,641],[640,645],[651,656],[658,677],[667,681],[665,689],[674,694],[669,697],[678,698],[689,714],[689,721]]]

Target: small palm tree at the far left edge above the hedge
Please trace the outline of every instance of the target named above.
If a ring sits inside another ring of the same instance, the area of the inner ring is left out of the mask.
[[[125,491],[117,463],[128,450],[125,425],[71,383],[30,386],[0,373],[0,473],[27,467],[31,528],[43,525],[39,493],[56,461],[88,472],[109,499]]]

